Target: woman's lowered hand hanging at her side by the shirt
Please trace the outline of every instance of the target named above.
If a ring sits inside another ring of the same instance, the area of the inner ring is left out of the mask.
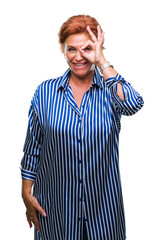
[[[32,227],[32,223],[36,227],[38,232],[41,232],[40,224],[37,217],[37,211],[43,216],[46,217],[46,213],[44,209],[40,206],[37,198],[35,198],[31,193],[23,194],[23,201],[26,206],[26,216],[27,221],[29,223],[30,228]]]

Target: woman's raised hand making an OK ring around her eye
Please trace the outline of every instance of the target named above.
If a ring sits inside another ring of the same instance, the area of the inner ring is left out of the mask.
[[[97,26],[97,38],[91,31],[90,27],[87,26],[87,31],[91,37],[81,48],[81,55],[86,58],[89,62],[95,64],[99,68],[107,61],[103,55],[102,46],[104,43],[104,32],[101,31],[100,26]]]

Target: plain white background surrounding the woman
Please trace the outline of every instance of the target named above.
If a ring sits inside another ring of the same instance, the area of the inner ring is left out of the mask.
[[[33,93],[67,63],[58,31],[70,16],[89,14],[105,32],[105,56],[143,96],[122,118],[120,170],[128,240],[162,240],[161,0],[5,0],[0,3],[1,239],[33,239],[21,199],[19,165]]]

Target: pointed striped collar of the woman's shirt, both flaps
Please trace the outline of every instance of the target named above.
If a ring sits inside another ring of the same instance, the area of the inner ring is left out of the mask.
[[[68,80],[69,80],[69,74],[70,74],[70,68],[67,69],[67,71],[63,74],[63,76],[60,79],[60,82],[58,84],[58,89],[60,89],[61,87],[66,90],[68,87]],[[94,77],[93,77],[93,82],[92,85],[97,85],[100,88],[103,89],[103,81],[102,81],[102,76],[99,73],[99,70],[97,67],[95,67],[95,73],[94,73]]]

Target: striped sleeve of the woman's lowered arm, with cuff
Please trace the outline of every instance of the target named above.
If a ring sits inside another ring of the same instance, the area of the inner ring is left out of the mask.
[[[37,176],[39,157],[44,138],[44,129],[38,115],[38,101],[35,93],[28,114],[28,128],[23,147],[20,169],[23,179],[34,181]]]

